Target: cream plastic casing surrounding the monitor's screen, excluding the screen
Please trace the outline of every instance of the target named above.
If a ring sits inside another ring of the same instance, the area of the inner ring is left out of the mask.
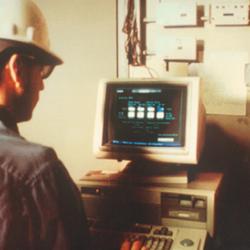
[[[107,145],[103,143],[105,98],[109,84],[171,84],[187,87],[185,142],[182,147],[140,147]],[[196,164],[198,163],[204,134],[204,107],[200,100],[199,77],[167,77],[153,79],[103,79],[97,95],[96,120],[94,131],[94,154],[97,158],[116,160],[148,159],[158,162]]]

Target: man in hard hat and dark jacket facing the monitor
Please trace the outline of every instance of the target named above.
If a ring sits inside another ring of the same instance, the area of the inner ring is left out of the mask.
[[[26,141],[43,80],[62,61],[29,0],[0,0],[0,249],[87,250],[79,192],[53,149]]]

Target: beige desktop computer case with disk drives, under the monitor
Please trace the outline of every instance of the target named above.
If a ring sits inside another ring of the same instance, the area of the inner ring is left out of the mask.
[[[97,174],[77,185],[89,219],[206,229],[215,236],[222,174],[200,173],[187,184],[139,184]]]

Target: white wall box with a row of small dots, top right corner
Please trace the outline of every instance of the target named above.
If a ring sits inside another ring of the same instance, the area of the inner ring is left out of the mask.
[[[211,22],[216,26],[249,24],[248,0],[214,1],[211,4]]]

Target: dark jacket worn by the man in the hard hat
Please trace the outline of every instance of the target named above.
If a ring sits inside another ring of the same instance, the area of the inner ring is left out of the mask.
[[[53,149],[22,138],[0,110],[0,249],[87,250],[80,194]]]

